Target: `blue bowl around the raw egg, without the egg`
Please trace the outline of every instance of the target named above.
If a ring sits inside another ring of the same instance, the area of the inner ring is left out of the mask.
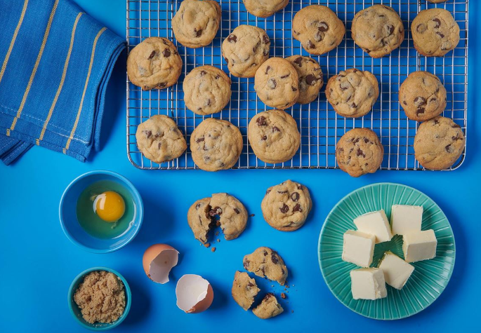
[[[133,226],[117,238],[102,239],[91,236],[81,227],[77,219],[77,201],[80,194],[90,184],[101,180],[110,180],[124,186],[131,193],[136,205],[137,212],[133,220]],[[91,171],[74,179],[63,192],[59,207],[60,225],[65,236],[84,250],[94,253],[113,252],[124,247],[137,236],[142,225],[143,208],[142,198],[133,184],[129,182],[129,179],[112,171]]]

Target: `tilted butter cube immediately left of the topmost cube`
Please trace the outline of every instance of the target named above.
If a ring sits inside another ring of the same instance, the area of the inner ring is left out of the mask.
[[[358,231],[376,236],[376,244],[388,242],[393,238],[388,217],[384,210],[361,215],[354,219],[354,224],[357,226]]]

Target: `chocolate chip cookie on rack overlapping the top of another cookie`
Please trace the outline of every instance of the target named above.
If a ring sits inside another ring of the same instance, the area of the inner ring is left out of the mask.
[[[299,76],[291,62],[271,57],[257,69],[254,90],[265,105],[287,109],[299,97]]]

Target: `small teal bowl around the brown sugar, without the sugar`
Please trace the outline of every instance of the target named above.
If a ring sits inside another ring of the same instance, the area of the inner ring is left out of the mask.
[[[115,320],[114,322],[109,322],[109,323],[95,323],[91,324],[90,322],[86,322],[84,318],[82,317],[82,313],[79,309],[79,306],[77,306],[77,303],[74,301],[74,294],[77,291],[77,288],[79,287],[80,283],[84,281],[85,276],[88,273],[91,273],[93,271],[107,271],[114,273],[116,276],[120,278],[122,283],[124,283],[125,287],[125,309],[124,313],[120,316],[119,319]],[[72,284],[70,285],[69,288],[69,294],[68,294],[68,304],[69,304],[69,310],[70,313],[74,316],[74,318],[79,322],[80,325],[85,327],[86,329],[91,329],[92,331],[106,331],[107,329],[112,329],[114,327],[117,327],[120,325],[121,322],[124,321],[126,316],[129,314],[129,311],[131,309],[131,303],[132,303],[132,294],[131,294],[131,288],[129,287],[129,283],[125,280],[123,276],[117,271],[114,271],[113,269],[108,269],[107,267],[93,267],[91,269],[86,269],[85,271],[81,272],[78,276],[74,278],[72,281]]]

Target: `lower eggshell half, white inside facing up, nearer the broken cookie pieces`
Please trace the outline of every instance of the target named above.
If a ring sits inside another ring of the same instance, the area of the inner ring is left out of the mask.
[[[212,286],[202,276],[185,274],[176,287],[177,306],[185,313],[206,311],[213,301]]]

